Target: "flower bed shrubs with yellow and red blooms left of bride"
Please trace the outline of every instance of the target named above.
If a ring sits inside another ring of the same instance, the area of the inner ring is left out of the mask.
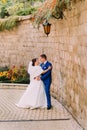
[[[0,70],[3,70],[0,72],[0,82],[29,83],[29,75],[25,66],[21,65],[19,68],[13,66],[7,70],[6,67],[1,67]]]

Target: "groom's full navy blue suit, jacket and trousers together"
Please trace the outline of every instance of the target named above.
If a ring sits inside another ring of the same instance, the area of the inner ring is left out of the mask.
[[[42,63],[41,67],[43,70],[48,69],[49,66],[52,66],[50,62],[46,62],[46,64]],[[50,96],[50,86],[52,82],[52,75],[51,75],[52,69],[48,70],[45,74],[41,75],[41,80],[43,81],[45,85],[45,92],[47,97],[47,107],[51,107],[51,96]]]

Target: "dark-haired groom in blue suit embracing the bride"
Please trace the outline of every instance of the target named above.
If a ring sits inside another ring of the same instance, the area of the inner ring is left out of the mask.
[[[47,61],[47,56],[45,54],[40,55],[40,61],[41,61],[41,68],[43,70],[48,69],[48,67],[52,67],[52,64]],[[52,68],[47,71],[46,73],[41,75],[41,80],[43,81],[45,85],[45,93],[46,93],[46,98],[47,98],[47,109],[51,109],[51,96],[50,96],[50,86],[52,82]]]

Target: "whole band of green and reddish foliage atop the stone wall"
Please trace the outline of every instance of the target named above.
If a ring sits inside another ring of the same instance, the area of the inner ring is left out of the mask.
[[[35,6],[37,1],[44,2],[37,7]],[[0,31],[13,29],[19,24],[18,16],[23,15],[32,14],[34,23],[38,27],[51,17],[63,19],[65,9],[70,9],[71,3],[77,1],[84,0],[2,0],[0,1],[0,17],[6,19],[0,20]]]

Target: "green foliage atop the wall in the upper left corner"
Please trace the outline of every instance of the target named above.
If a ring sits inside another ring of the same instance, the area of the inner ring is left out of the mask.
[[[19,25],[19,17],[33,14],[37,7],[31,5],[32,0],[2,0],[0,1],[0,31],[11,30]],[[36,0],[35,0],[36,1]]]

